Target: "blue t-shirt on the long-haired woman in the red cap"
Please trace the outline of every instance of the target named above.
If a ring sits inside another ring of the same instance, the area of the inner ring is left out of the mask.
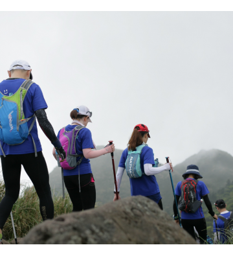
[[[128,148],[126,148],[122,152],[122,156],[120,157],[119,167],[126,168],[126,159],[128,157]],[[140,167],[142,172],[144,172],[144,164],[151,163],[151,165],[155,164],[153,150],[149,146],[144,146],[142,148],[142,152],[140,154]],[[131,188],[131,196],[151,196],[152,194],[157,194],[159,192],[159,185],[155,176],[150,175],[142,175],[140,178],[130,179],[130,188]]]

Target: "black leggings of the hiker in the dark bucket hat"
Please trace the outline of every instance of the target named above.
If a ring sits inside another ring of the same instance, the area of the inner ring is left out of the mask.
[[[204,244],[207,237],[207,227],[205,218],[198,218],[197,220],[184,220],[181,219],[183,228],[192,235],[195,239],[194,227],[198,232],[200,244]]]

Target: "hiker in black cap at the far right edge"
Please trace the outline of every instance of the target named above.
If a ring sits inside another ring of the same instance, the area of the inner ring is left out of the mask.
[[[233,231],[233,212],[227,211],[227,204],[223,199],[217,200],[214,204],[220,213],[217,220],[214,220],[214,243],[221,242],[221,244],[224,244],[228,237],[233,235],[233,233],[230,233],[230,231]]]

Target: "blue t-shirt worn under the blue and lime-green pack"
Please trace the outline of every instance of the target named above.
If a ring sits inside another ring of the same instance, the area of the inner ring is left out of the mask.
[[[19,87],[21,86],[21,84],[23,84],[24,81],[25,79],[3,80],[3,82],[0,83],[0,91],[1,93],[3,93],[3,95],[12,95],[16,93],[16,91],[19,89]],[[41,88],[38,86],[38,84],[32,84],[28,89],[25,100],[23,101],[23,112],[25,114],[25,118],[34,115],[36,110],[41,110],[45,108],[48,108],[48,106],[43,97]],[[27,122],[28,128],[30,128],[32,121],[33,118]],[[30,131],[30,134],[32,134],[32,137],[36,143],[37,152],[41,151],[42,148],[38,137],[38,129],[36,126],[36,122],[34,122],[34,126]],[[1,146],[3,147],[3,151],[6,155],[34,153],[35,150],[34,145],[32,143],[32,137],[28,135],[27,139],[25,139],[23,143],[14,146],[7,145],[6,143],[3,143],[1,141]],[[3,156],[3,152],[1,151],[1,149],[0,155]]]

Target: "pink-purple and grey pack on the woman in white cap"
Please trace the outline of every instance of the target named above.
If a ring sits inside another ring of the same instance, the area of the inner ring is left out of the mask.
[[[65,127],[60,130],[60,141],[63,149],[65,150],[66,159],[61,162],[61,167],[65,170],[72,170],[77,165],[80,165],[83,159],[83,155],[76,154],[75,141],[80,130],[85,128],[85,126],[77,125],[71,132],[67,132]],[[76,157],[81,157],[79,161],[77,161]],[[61,159],[61,158],[60,158]]]

